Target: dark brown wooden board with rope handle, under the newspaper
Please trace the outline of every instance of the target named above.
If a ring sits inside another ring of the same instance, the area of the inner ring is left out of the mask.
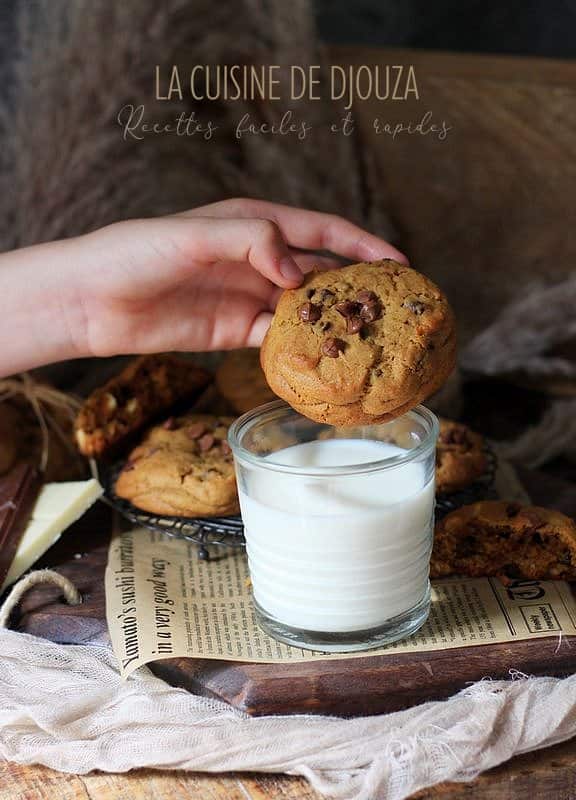
[[[550,481],[532,479],[550,493]],[[530,478],[526,481],[530,482]],[[570,484],[552,480],[556,505],[576,502]],[[550,505],[550,503],[548,503]],[[110,512],[98,504],[53,548],[43,566],[55,566],[82,593],[71,607],[57,589],[38,587],[25,598],[20,630],[62,644],[108,642],[104,570]],[[86,544],[89,543],[87,547]],[[88,552],[86,552],[86,550]],[[81,557],[78,555],[81,554]],[[510,670],[564,676],[576,668],[576,649],[558,637],[451,650],[293,664],[167,659],[151,670],[173,686],[224,700],[249,714],[318,713],[343,716],[398,711],[446,698],[484,677],[509,678]]]

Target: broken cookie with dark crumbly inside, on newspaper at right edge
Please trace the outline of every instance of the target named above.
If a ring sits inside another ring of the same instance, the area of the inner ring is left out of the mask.
[[[576,524],[559,511],[485,500],[436,526],[430,575],[574,580]]]

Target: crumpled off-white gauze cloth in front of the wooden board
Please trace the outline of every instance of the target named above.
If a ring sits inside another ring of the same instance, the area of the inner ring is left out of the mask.
[[[400,800],[576,733],[576,676],[485,680],[386,716],[250,718],[147,668],[122,682],[104,647],[2,630],[0,653],[0,757],[64,772],[287,772],[330,797]]]

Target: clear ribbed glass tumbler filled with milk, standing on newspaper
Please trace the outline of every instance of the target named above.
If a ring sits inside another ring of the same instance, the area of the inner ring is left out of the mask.
[[[414,633],[430,608],[438,420],[336,428],[282,401],[230,428],[260,626],[328,652]]]

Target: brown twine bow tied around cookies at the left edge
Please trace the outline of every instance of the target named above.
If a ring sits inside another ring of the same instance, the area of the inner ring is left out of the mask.
[[[68,449],[73,449],[52,409],[63,412],[66,417],[73,420],[80,407],[80,401],[73,395],[54,389],[45,383],[38,383],[27,372],[0,380],[0,403],[15,397],[21,397],[29,403],[38,421],[42,438],[39,466],[44,471],[50,451],[50,431],[58,436]]]

